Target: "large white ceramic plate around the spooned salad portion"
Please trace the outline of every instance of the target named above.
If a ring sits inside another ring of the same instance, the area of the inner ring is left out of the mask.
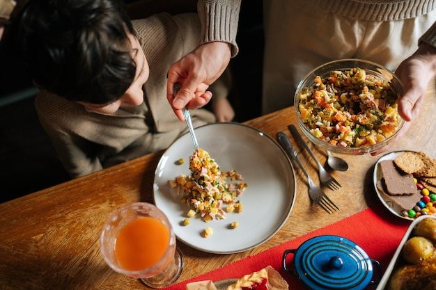
[[[295,172],[279,144],[258,129],[236,123],[207,124],[195,129],[198,144],[219,164],[221,172],[237,170],[248,184],[238,198],[243,212],[228,213],[224,220],[205,223],[199,216],[182,225],[189,211],[180,202],[177,188],[169,179],[189,175],[189,156],[194,152],[189,134],[178,138],[163,154],[153,184],[156,206],[168,216],[180,241],[204,252],[228,254],[243,252],[264,243],[287,220],[295,202]],[[185,163],[178,165],[183,158]],[[239,226],[230,229],[237,221]],[[212,227],[213,234],[201,233]]]

